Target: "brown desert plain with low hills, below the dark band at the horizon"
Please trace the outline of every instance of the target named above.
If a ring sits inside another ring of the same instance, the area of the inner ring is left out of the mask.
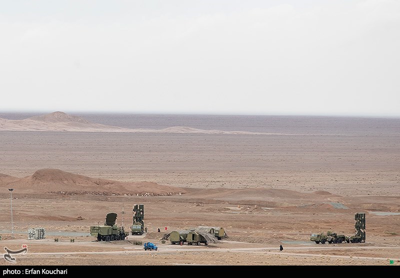
[[[400,119],[340,133],[129,130],[62,112],[0,119],[0,244],[27,249],[0,266],[400,266],[399,162]],[[108,212],[129,231],[135,204],[146,234],[90,236]],[[364,243],[309,240],[352,236],[355,213],[365,213]],[[227,238],[161,241],[198,226]],[[28,240],[37,227],[45,239]]]

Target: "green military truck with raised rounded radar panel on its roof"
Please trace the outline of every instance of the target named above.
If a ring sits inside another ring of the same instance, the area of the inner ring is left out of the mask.
[[[123,227],[115,224],[117,214],[108,213],[105,217],[104,225],[91,226],[90,235],[96,237],[97,241],[123,241],[129,235],[125,233]]]

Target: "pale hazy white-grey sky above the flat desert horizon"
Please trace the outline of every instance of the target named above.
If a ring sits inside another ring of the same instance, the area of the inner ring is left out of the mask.
[[[400,116],[399,0],[0,0],[0,111]]]

